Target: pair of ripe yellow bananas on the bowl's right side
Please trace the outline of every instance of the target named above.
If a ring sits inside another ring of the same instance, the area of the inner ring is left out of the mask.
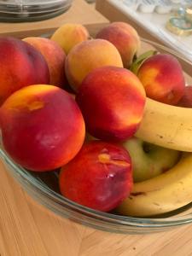
[[[192,152],[192,108],[178,108],[147,99],[136,137],[164,148]],[[192,201],[192,153],[157,177],[135,183],[117,211],[129,216],[170,212]]]

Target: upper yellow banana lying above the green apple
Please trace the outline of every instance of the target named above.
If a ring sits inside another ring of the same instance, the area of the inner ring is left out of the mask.
[[[192,152],[192,108],[180,108],[147,98],[136,137],[164,148]]]

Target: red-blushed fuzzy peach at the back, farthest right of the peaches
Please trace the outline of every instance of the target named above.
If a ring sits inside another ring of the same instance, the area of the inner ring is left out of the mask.
[[[131,66],[141,46],[137,31],[125,22],[111,23],[98,32],[96,38],[108,40],[119,50],[124,67]]]

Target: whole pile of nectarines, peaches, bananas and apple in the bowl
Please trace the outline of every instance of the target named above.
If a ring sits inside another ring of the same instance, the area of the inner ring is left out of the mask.
[[[0,38],[10,158],[29,172],[59,169],[61,195],[98,211],[152,216],[189,204],[192,87],[175,56],[140,48],[123,22],[96,38],[79,24]]]

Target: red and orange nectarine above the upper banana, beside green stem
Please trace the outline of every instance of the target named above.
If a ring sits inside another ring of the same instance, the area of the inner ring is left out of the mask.
[[[172,55],[158,54],[143,62],[137,73],[146,95],[158,102],[176,105],[183,96],[183,70]]]

